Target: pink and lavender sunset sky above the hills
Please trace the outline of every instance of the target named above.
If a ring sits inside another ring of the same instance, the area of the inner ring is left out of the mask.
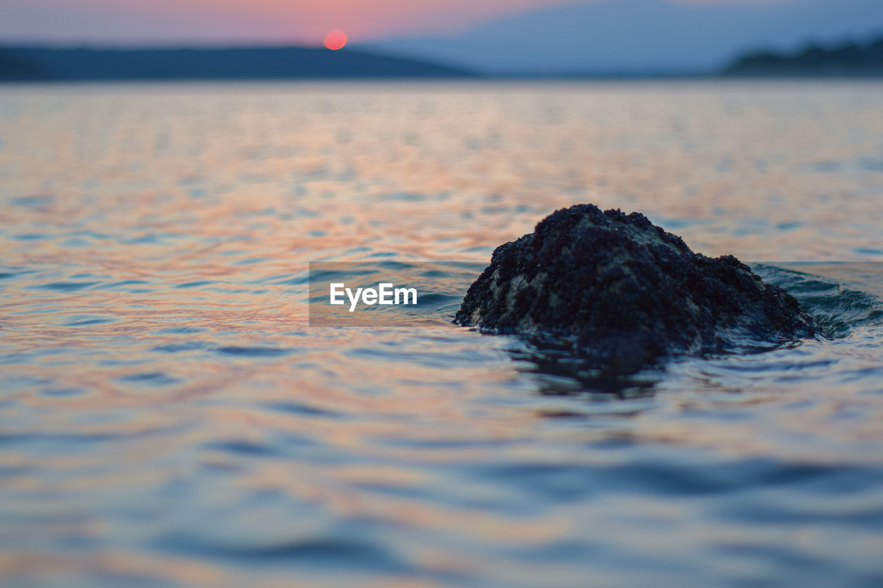
[[[455,33],[494,17],[562,4],[575,0],[0,0],[0,43],[320,45],[331,29],[356,42]]]

